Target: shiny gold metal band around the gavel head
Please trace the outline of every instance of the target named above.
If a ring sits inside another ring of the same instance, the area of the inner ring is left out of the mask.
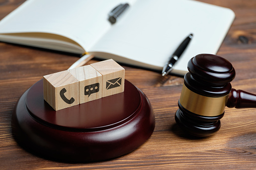
[[[207,97],[194,93],[183,85],[180,97],[181,105],[195,113],[202,116],[218,116],[224,112],[228,95],[221,97]]]

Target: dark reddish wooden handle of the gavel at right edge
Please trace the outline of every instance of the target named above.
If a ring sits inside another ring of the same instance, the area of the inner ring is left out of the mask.
[[[226,106],[235,108],[256,107],[256,95],[243,90],[231,89]]]

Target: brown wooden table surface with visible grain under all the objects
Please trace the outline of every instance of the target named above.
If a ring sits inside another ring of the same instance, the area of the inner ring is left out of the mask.
[[[0,19],[22,2],[24,0],[0,1]],[[232,87],[255,94],[256,1],[202,2],[234,11],[236,18],[217,55],[229,60],[236,69]],[[27,152],[12,136],[11,116],[15,103],[43,75],[66,70],[77,59],[68,54],[0,43],[1,169],[256,168],[256,109],[226,108],[219,132],[208,138],[189,137],[174,119],[183,78],[162,78],[159,73],[128,66],[124,66],[126,79],[147,95],[155,113],[154,132],[143,145],[112,160],[78,164],[55,162]],[[92,60],[88,64],[94,62],[97,61]]]

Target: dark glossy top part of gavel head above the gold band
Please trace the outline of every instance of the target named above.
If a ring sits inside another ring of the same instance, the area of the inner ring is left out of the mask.
[[[184,77],[186,86],[193,92],[208,96],[221,97],[229,94],[235,70],[224,58],[199,54],[188,62],[188,70]]]

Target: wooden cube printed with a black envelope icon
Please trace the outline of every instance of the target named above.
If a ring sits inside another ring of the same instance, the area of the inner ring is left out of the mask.
[[[102,74],[102,97],[124,91],[124,68],[114,60],[105,60],[91,64]]]

